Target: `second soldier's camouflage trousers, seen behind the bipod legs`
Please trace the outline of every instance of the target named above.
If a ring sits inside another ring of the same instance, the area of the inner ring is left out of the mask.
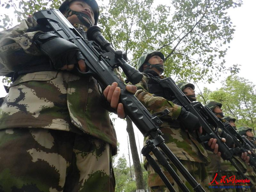
[[[188,170],[188,172],[194,177],[194,179],[201,184],[201,186],[204,188],[206,192],[211,192],[212,189],[208,187],[208,184],[210,183],[210,180],[208,178],[205,165],[203,163],[193,162],[193,161],[186,161],[186,160],[180,160],[180,162],[183,164],[183,166]],[[172,166],[173,170],[179,175],[180,179],[185,183],[187,188],[190,191],[194,191],[191,185],[188,183],[188,181],[184,178],[184,176],[180,173],[177,168],[169,162],[169,164]],[[158,164],[159,165],[159,164]],[[168,178],[168,180],[171,182],[173,188],[177,192],[182,192],[182,190],[179,188],[177,183],[172,179],[172,176],[169,174],[169,172],[166,171],[166,169],[159,165],[161,169],[163,170],[165,176]],[[150,191],[153,192],[169,192],[168,188],[164,185],[164,182],[161,180],[159,175],[153,170],[153,168],[148,165],[148,187],[150,187]]]

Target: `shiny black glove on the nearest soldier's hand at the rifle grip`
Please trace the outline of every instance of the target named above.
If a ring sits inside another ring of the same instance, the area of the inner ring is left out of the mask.
[[[53,33],[37,33],[33,40],[40,51],[50,57],[56,69],[64,65],[76,64],[78,60],[84,60],[76,44]]]

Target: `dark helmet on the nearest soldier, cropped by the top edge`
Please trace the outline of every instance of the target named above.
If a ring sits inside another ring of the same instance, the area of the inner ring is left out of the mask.
[[[64,13],[65,11],[68,10],[68,5],[75,0],[65,0],[62,2],[62,4],[59,7],[59,10],[61,13]],[[94,25],[97,25],[98,20],[99,20],[99,15],[100,15],[100,9],[99,9],[99,5],[97,4],[97,2],[95,0],[81,0],[84,1],[85,3],[87,3],[88,5],[90,5],[92,7],[92,11],[94,13],[94,20],[95,23]]]

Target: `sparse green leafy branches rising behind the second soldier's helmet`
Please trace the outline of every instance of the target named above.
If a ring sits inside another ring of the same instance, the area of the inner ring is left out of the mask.
[[[160,50],[166,55],[165,74],[178,79],[216,80],[220,72],[237,73],[224,66],[227,47],[235,31],[228,8],[241,0],[172,0],[156,5],[153,0],[109,0],[101,7],[104,36],[122,49],[136,65],[140,55]],[[175,65],[174,65],[175,63]]]

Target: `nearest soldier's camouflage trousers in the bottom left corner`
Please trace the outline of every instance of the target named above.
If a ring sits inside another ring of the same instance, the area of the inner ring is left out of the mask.
[[[0,130],[0,192],[114,189],[108,143],[51,129]]]

